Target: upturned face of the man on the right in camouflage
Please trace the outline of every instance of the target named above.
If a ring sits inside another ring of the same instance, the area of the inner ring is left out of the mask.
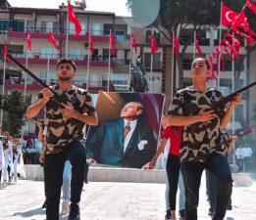
[[[207,69],[206,63],[203,59],[196,59],[193,61],[190,71],[192,79],[207,80],[210,76],[210,69]]]

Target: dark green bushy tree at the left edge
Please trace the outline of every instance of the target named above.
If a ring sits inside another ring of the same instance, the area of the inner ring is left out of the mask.
[[[2,109],[5,115],[3,130],[9,131],[10,135],[18,135],[22,126],[26,124],[26,103],[22,91],[14,90],[11,94],[4,95]]]

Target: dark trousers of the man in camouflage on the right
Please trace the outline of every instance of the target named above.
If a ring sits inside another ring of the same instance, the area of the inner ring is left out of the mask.
[[[182,162],[180,167],[185,188],[185,219],[197,220],[201,176],[206,168],[217,179],[213,219],[222,220],[225,217],[232,190],[230,165],[227,158],[222,154],[212,154],[207,162]]]

